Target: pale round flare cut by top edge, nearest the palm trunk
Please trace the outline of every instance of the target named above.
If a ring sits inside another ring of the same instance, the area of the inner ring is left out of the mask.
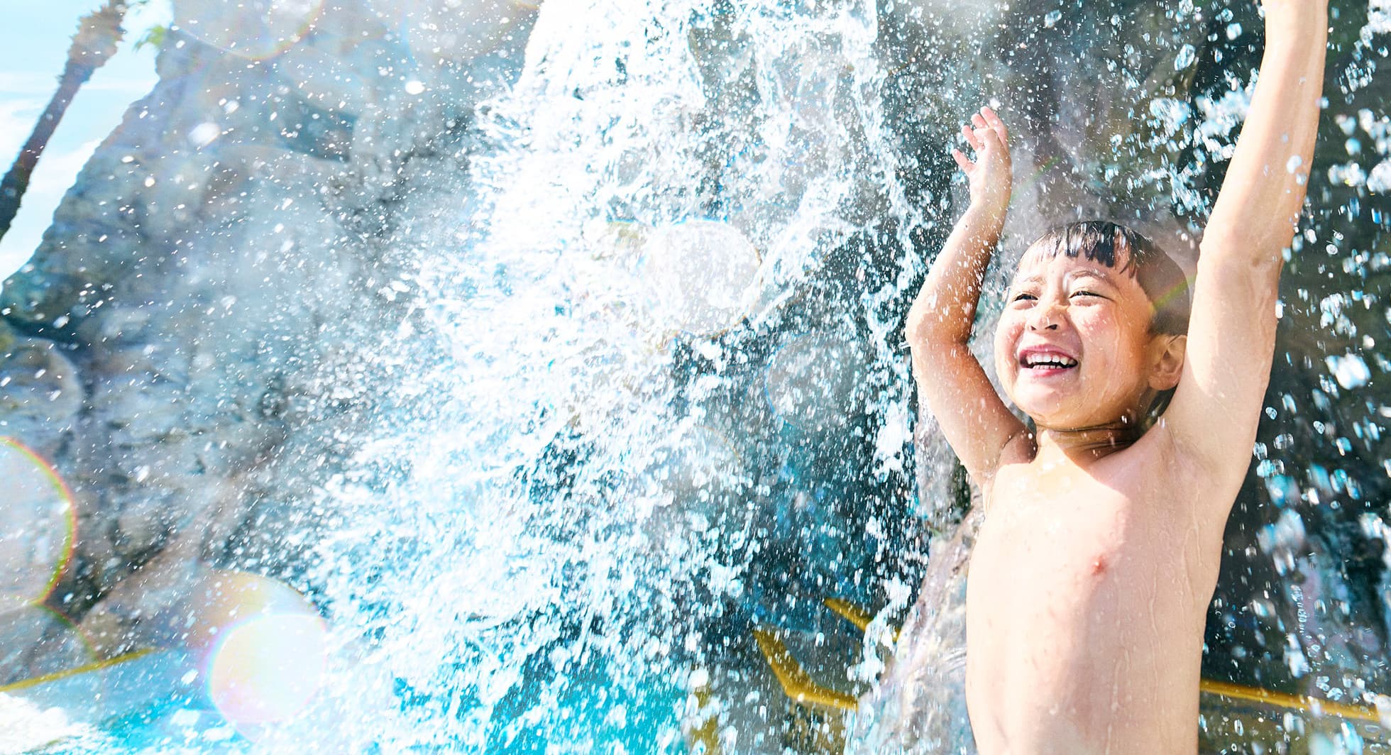
[[[182,0],[178,28],[207,44],[252,60],[268,60],[305,38],[324,0]]]

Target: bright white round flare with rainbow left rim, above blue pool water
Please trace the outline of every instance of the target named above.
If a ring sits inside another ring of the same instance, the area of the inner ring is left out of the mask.
[[[319,616],[267,613],[225,631],[207,669],[209,697],[238,731],[294,720],[314,698],[328,662]]]

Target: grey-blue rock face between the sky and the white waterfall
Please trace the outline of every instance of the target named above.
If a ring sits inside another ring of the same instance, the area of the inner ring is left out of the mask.
[[[428,4],[262,6],[175,3],[159,85],[0,295],[0,434],[77,495],[54,608],[103,655],[177,640],[154,617],[200,563],[302,558],[278,535],[389,389],[357,359],[402,317],[401,197],[465,165],[451,128],[530,15],[477,6],[512,17],[477,36]]]

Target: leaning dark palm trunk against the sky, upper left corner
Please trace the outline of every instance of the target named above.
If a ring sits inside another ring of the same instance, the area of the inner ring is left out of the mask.
[[[68,49],[68,63],[58,78],[58,90],[49,100],[39,122],[33,127],[33,133],[24,143],[19,156],[15,157],[10,172],[0,181],[0,238],[10,231],[15,213],[19,211],[19,200],[29,188],[29,177],[33,167],[43,154],[53,132],[58,128],[58,121],[67,111],[78,89],[92,78],[92,72],[100,68],[113,54],[121,42],[125,31],[121,19],[125,17],[127,0],[107,0],[104,6],[82,17],[78,22],[78,33],[72,35],[72,46]]]

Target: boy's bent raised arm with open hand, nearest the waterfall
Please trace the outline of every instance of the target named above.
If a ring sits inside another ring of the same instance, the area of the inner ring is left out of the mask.
[[[932,263],[908,310],[906,335],[918,396],[971,477],[985,484],[1006,444],[1025,428],[968,348],[981,282],[1010,203],[1008,132],[988,107],[972,117],[972,124],[975,128],[963,127],[963,133],[976,161],[953,150],[971,181],[971,206]]]

